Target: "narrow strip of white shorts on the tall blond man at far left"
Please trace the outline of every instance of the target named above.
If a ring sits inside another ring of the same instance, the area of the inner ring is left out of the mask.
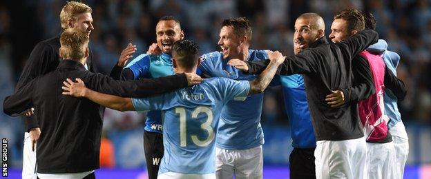
[[[24,134],[24,147],[23,147],[23,179],[36,179],[36,149],[32,151],[32,143],[30,140],[30,133]]]

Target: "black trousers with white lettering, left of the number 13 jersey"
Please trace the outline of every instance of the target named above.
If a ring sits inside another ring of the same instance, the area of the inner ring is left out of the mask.
[[[144,151],[149,179],[157,179],[159,165],[164,153],[163,135],[157,132],[144,131]]]

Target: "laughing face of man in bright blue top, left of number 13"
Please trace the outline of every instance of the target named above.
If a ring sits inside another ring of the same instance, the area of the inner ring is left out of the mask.
[[[180,25],[173,20],[159,21],[155,26],[157,46],[166,54],[172,54],[172,46],[176,41],[184,39]]]

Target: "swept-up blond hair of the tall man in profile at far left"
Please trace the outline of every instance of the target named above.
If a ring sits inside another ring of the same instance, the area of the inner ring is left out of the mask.
[[[85,12],[93,12],[90,6],[77,1],[70,1],[63,6],[60,12],[61,29],[68,29],[68,21],[77,21],[77,15]]]

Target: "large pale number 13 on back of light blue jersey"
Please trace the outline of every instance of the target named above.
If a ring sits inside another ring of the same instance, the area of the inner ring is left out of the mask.
[[[175,113],[180,114],[180,146],[187,146],[187,119],[186,119],[186,108],[185,107],[175,107]],[[206,147],[214,140],[214,130],[211,127],[211,123],[213,123],[213,111],[211,107],[199,106],[193,109],[191,112],[191,120],[198,120],[198,115],[204,113],[207,115],[207,120],[200,125],[200,129],[203,131],[207,131],[207,138],[203,138],[202,140],[196,134],[191,135],[191,141],[198,145],[199,147]]]

